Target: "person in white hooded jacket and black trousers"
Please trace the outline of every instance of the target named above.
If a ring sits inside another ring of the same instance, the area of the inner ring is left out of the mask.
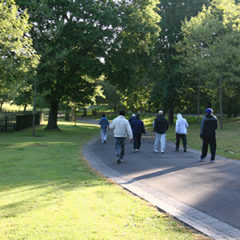
[[[185,118],[182,117],[180,113],[177,114],[177,121],[176,121],[176,151],[179,151],[179,144],[180,139],[182,139],[183,143],[183,151],[187,151],[187,128],[188,122]]]

